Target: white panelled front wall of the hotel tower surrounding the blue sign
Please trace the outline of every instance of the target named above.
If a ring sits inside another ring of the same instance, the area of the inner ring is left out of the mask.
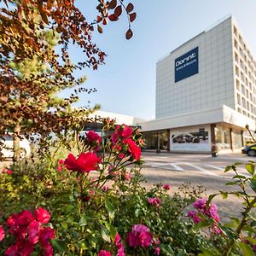
[[[231,24],[230,17],[157,63],[156,119],[223,104],[235,109]],[[195,47],[199,50],[199,73],[175,83],[175,59]]]

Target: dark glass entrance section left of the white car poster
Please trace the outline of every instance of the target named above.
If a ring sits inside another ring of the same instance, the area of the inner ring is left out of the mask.
[[[146,131],[143,132],[145,141],[145,149],[158,149],[158,143],[160,143],[160,149],[167,150],[168,148],[168,131]],[[159,137],[159,139],[158,139]]]

